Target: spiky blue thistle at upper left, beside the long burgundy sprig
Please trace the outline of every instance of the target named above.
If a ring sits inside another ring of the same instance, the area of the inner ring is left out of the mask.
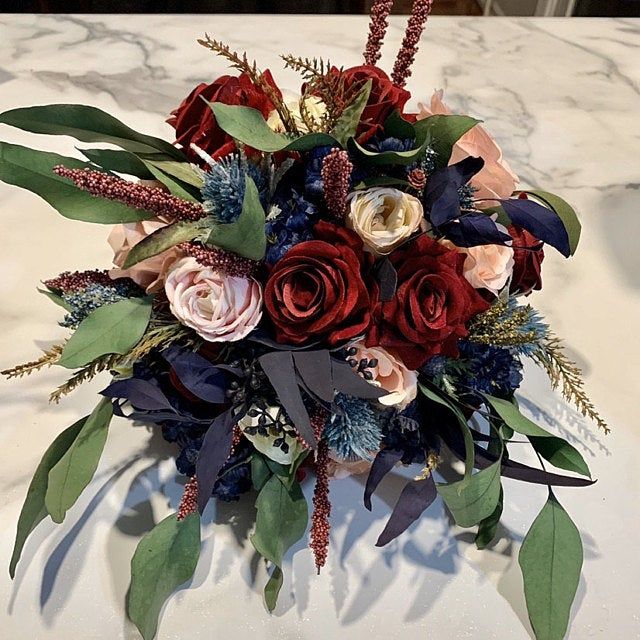
[[[264,205],[267,179],[255,164],[232,153],[210,165],[209,172],[204,176],[204,210],[223,224],[235,222],[242,213],[247,175],[256,183]]]

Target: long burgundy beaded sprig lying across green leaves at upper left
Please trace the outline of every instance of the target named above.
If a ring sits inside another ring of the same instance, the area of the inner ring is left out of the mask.
[[[166,216],[172,220],[200,220],[207,214],[196,202],[177,198],[157,187],[147,187],[93,169],[69,169],[62,165],[53,168],[61,178],[71,180],[78,189],[92,196],[117,200],[134,209]]]

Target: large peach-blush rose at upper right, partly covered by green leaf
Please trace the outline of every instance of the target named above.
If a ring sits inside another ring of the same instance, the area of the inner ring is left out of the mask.
[[[451,115],[451,109],[442,101],[443,91],[434,92],[429,106],[420,102],[420,112],[417,120],[423,120],[433,115]],[[469,156],[480,157],[484,160],[484,167],[471,179],[472,186],[478,189],[475,197],[508,198],[515,190],[518,176],[511,170],[507,161],[502,157],[502,151],[487,130],[477,124],[465,133],[453,147],[449,164],[455,164]],[[494,206],[495,202],[479,202],[481,208]]]

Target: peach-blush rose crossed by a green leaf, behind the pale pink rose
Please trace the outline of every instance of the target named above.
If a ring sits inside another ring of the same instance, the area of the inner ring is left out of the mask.
[[[184,256],[184,253],[179,249],[175,247],[168,249],[157,256],[138,262],[138,264],[129,267],[129,269],[122,269],[122,265],[132,247],[154,231],[166,227],[167,224],[169,224],[167,220],[158,217],[142,220],[141,222],[127,222],[115,225],[107,239],[113,249],[113,264],[116,265],[114,269],[109,271],[109,275],[114,280],[117,278],[131,278],[147,293],[156,293],[162,289],[167,272],[176,260]]]

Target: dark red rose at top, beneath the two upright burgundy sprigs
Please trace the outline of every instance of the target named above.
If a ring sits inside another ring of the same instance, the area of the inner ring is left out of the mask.
[[[362,120],[358,127],[358,142],[364,143],[373,135],[382,131],[384,121],[397,110],[402,112],[411,94],[402,87],[393,84],[389,76],[378,67],[361,65],[343,71],[345,88],[349,89],[355,83],[364,84],[371,79],[371,94],[362,113]]]

